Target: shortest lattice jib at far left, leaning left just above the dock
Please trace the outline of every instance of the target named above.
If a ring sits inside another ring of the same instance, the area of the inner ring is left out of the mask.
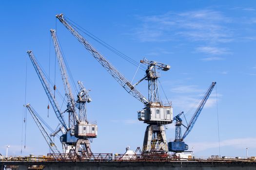
[[[44,128],[42,123],[39,121],[38,114],[35,111],[35,109],[29,103],[26,104],[26,107],[27,107],[29,113],[31,114],[32,118],[35,120],[42,136],[44,137],[45,141],[49,145],[51,151],[53,153],[60,153],[59,148],[56,146],[56,144],[54,143],[54,141],[51,138],[51,136],[49,135],[49,133],[46,131],[46,129]]]

